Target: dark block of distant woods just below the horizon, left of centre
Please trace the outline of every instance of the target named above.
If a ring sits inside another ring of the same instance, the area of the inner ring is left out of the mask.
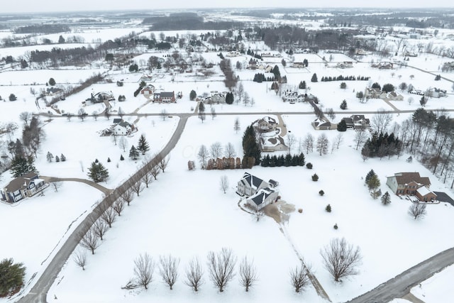
[[[143,19],[144,25],[151,25],[153,31],[179,31],[179,30],[226,30],[228,28],[241,28],[242,22],[220,21],[204,22],[196,13],[171,13],[169,16],[150,17]]]

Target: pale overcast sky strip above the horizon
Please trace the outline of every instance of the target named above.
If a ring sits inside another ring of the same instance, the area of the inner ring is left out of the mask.
[[[308,2],[301,0],[3,0],[0,13],[43,12],[43,11],[100,11],[100,10],[136,10],[136,9],[191,9],[216,7],[307,7]],[[448,7],[447,0],[316,0],[309,2],[317,7],[376,7],[380,8],[417,8]]]

